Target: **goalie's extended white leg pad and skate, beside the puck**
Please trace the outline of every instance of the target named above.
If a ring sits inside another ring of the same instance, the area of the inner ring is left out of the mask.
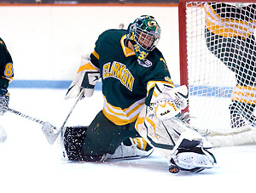
[[[166,157],[171,173],[180,170],[201,172],[216,164],[215,157],[208,151],[212,144],[176,116],[160,120],[152,108],[144,105],[137,118],[136,129],[148,145]]]

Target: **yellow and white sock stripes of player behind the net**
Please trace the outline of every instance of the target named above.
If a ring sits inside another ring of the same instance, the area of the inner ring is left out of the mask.
[[[256,105],[256,87],[237,85],[232,92],[231,99],[251,105]]]

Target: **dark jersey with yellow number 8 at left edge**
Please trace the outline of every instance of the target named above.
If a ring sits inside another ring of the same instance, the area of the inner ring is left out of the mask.
[[[13,80],[13,60],[6,48],[5,43],[0,38],[0,89],[8,88],[9,82]]]

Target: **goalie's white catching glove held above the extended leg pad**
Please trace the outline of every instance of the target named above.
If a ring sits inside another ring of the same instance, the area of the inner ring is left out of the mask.
[[[163,92],[154,99],[154,115],[161,120],[176,116],[185,109],[189,102],[188,88],[183,85],[178,88],[164,88]]]

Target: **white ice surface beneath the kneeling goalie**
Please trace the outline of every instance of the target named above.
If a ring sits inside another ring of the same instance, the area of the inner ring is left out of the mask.
[[[73,106],[64,89],[9,88],[9,107],[60,127]],[[79,101],[67,125],[88,125],[102,109],[100,91]],[[7,112],[0,124],[8,133],[0,144],[0,192],[255,192],[256,146],[213,148],[216,167],[201,173],[168,172],[157,152],[144,159],[64,162],[49,145],[41,125]]]

